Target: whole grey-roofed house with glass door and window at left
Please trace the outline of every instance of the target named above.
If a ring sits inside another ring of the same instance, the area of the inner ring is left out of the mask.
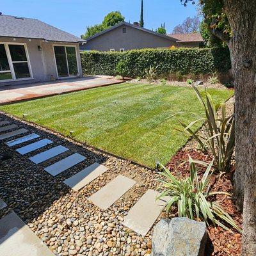
[[[40,20],[0,13],[0,86],[82,77],[81,42]]]

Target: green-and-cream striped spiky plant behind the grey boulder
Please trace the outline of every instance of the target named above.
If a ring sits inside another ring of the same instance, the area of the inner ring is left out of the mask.
[[[195,164],[202,164],[207,166],[207,169],[202,177],[199,179],[198,172]],[[213,161],[211,164],[207,164],[201,161],[195,161],[189,156],[190,176],[186,179],[175,178],[170,170],[161,165],[163,172],[161,175],[166,179],[160,179],[164,188],[161,195],[158,198],[164,196],[170,196],[170,200],[166,202],[166,210],[170,211],[170,208],[175,205],[178,207],[179,217],[187,217],[191,220],[205,221],[207,225],[209,222],[214,225],[219,225],[226,230],[229,230],[220,220],[225,221],[232,227],[241,232],[234,220],[230,215],[225,212],[218,202],[209,202],[209,198],[212,195],[222,194],[230,195],[225,192],[211,192],[211,177]]]

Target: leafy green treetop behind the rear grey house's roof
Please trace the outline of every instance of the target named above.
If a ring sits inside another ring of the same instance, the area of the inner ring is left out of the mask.
[[[101,31],[111,26],[115,26],[119,22],[123,22],[123,21],[124,21],[124,17],[120,12],[118,11],[110,12],[104,17],[104,20],[102,21],[101,24],[96,24],[94,26],[86,27],[86,32],[84,33],[84,35],[81,35],[81,38],[86,39],[90,36],[100,33]]]

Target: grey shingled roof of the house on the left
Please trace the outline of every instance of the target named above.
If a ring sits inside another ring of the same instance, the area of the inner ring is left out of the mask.
[[[36,38],[54,42],[85,42],[37,19],[0,15],[0,36]]]

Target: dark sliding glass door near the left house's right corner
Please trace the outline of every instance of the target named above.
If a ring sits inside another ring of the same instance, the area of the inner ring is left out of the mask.
[[[77,76],[76,47],[54,45],[58,77]]]

